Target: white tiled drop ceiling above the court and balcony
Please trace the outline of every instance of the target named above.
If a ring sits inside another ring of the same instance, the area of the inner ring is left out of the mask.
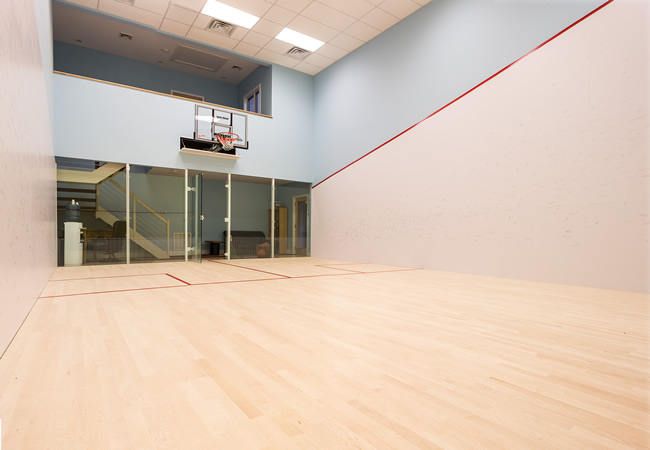
[[[315,75],[431,0],[220,1],[261,19],[250,30],[236,27],[230,36],[225,36],[207,29],[214,18],[200,13],[206,0],[65,0],[64,3],[83,8],[65,8],[54,3],[54,39],[146,62],[173,65],[178,63],[169,62],[168,56],[161,55],[161,49],[173,51],[175,45],[171,41],[177,36],[207,45],[214,49],[216,56],[227,59],[218,69],[221,73],[213,74],[215,79],[237,83],[227,77],[239,76],[241,81],[257,67],[250,60],[237,59],[232,53],[219,53],[219,49]],[[138,40],[150,40],[151,45],[143,44],[137,50],[129,50],[127,40],[119,38],[119,32],[129,31],[115,30],[120,26],[124,28],[128,22],[119,19],[148,27],[137,27],[138,35],[140,31],[147,31],[149,35],[143,38],[134,34],[128,42],[130,47],[136,47],[133,44]],[[287,52],[294,46],[274,38],[284,27],[319,39],[325,45],[302,60],[291,57]],[[153,35],[169,41],[158,42]],[[131,55],[125,54],[129,52]],[[232,73],[236,70],[232,66],[241,67],[238,74]],[[206,76],[204,72],[199,74]]]

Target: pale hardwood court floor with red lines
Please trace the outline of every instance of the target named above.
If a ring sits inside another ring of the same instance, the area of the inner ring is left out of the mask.
[[[59,268],[2,448],[648,448],[647,295],[315,258]]]

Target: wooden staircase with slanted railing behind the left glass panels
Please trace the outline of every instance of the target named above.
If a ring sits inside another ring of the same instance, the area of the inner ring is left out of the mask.
[[[95,225],[84,223],[87,228],[126,221],[126,189],[114,179],[124,167],[105,163],[94,170],[57,169],[57,209],[77,201],[82,211],[94,212],[101,221]],[[157,259],[169,259],[169,221],[135,194],[129,197],[131,241]]]

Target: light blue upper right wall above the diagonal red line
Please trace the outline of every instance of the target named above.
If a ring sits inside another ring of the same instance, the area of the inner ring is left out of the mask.
[[[602,3],[439,0],[421,8],[316,75],[314,181],[419,122]],[[408,165],[408,148],[395,163]]]

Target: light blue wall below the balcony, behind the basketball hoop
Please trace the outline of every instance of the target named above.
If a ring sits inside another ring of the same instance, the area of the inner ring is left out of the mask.
[[[248,116],[249,149],[236,161],[179,152],[194,102],[54,75],[57,156],[311,181],[313,77],[273,66],[273,118]]]

